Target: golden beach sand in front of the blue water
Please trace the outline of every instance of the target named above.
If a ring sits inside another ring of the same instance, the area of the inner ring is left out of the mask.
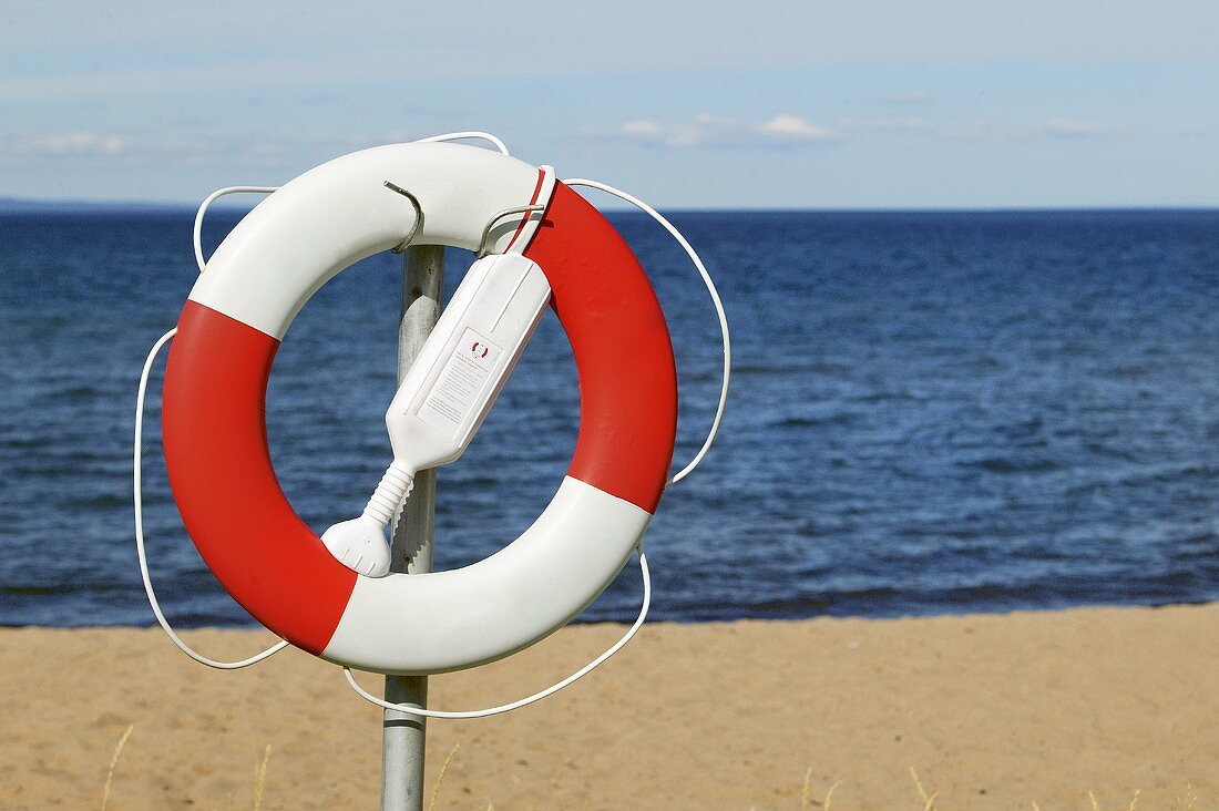
[[[433,679],[434,706],[518,698],[620,633],[568,628]],[[189,640],[244,656],[265,632]],[[366,677],[368,685],[377,677]],[[375,809],[380,713],[296,650],[194,665],[157,629],[0,631],[0,807]],[[917,620],[651,624],[550,700],[429,723],[439,809],[1219,807],[1219,604]],[[811,770],[811,771],[809,771]],[[1196,799],[1193,799],[1196,798]]]

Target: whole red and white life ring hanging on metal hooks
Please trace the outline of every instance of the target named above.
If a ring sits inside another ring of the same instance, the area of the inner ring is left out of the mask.
[[[266,387],[284,333],[349,265],[400,244],[474,250],[505,209],[547,201],[492,229],[535,261],[579,372],[570,468],[541,516],[464,568],[369,578],[339,563],[285,499],[267,448]],[[552,189],[547,188],[552,184]],[[677,373],[659,302],[625,241],[546,172],[473,146],[369,149],[319,166],[226,238],[178,321],[162,427],[174,500],[205,562],[267,628],[325,660],[383,673],[494,661],[566,624],[639,543],[667,482]]]

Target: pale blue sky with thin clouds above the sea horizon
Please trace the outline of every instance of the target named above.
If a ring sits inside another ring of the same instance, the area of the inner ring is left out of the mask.
[[[0,198],[484,129],[669,209],[1219,205],[1219,2],[0,5]]]

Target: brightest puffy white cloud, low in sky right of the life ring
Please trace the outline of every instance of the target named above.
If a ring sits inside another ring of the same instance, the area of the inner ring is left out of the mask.
[[[586,130],[594,139],[625,140],[672,149],[698,146],[794,146],[816,144],[841,138],[833,127],[813,123],[800,116],[779,113],[766,121],[741,121],[696,116],[686,123],[662,123],[652,118],[636,118],[620,127],[605,130]]]

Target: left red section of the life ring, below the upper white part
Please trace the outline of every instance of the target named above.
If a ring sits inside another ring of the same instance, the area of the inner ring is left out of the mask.
[[[297,517],[267,448],[266,396],[279,341],[187,301],[165,372],[161,424],[178,511],[233,599],[310,652],[343,617],[356,573]]]

